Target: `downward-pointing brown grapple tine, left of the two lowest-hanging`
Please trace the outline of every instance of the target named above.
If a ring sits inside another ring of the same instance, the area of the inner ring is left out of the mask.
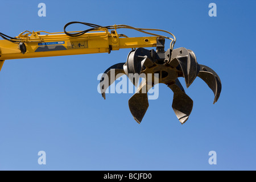
[[[151,88],[147,85],[147,81],[144,80],[139,85],[137,92],[129,99],[129,108],[135,121],[141,123],[147,108],[148,108],[148,97],[147,91]]]

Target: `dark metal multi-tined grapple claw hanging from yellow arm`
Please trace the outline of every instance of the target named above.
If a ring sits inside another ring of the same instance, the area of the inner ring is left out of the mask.
[[[193,108],[193,101],[185,94],[178,77],[185,78],[188,88],[199,76],[212,89],[213,104],[217,102],[221,92],[220,77],[209,67],[198,64],[193,51],[183,47],[174,50],[168,49],[166,52],[163,49],[159,50],[156,52],[154,49],[135,49],[129,53],[126,63],[115,64],[107,69],[101,80],[101,84],[104,84],[101,88],[102,96],[105,98],[108,86],[123,74],[128,76],[135,86],[139,82],[139,76],[142,74],[143,77],[146,76],[146,80],[141,82],[137,92],[129,99],[131,114],[138,123],[141,123],[148,108],[148,90],[159,83],[166,84],[174,92],[172,109],[180,123],[183,124],[188,120]],[[108,76],[108,79],[105,76]],[[156,78],[158,79],[156,80]]]

